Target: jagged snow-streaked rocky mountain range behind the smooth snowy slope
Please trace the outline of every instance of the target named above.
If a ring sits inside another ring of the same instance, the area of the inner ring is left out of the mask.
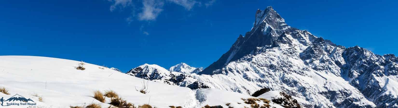
[[[252,30],[240,35],[219,60],[201,72],[193,70],[185,64],[170,70],[144,64],[127,74],[246,95],[269,88],[289,95],[302,108],[398,108],[395,55],[347,48],[290,27],[271,6],[256,11]]]

